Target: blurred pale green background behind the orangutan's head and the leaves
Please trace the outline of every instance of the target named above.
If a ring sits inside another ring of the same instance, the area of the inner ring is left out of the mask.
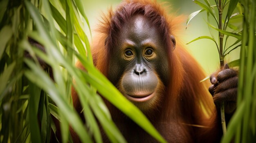
[[[158,2],[168,2],[166,5],[170,5],[169,12],[177,13],[177,15],[185,15],[187,18],[189,14],[194,11],[200,10],[200,7],[195,4],[192,0],[157,0]],[[88,16],[88,20],[90,22],[90,26],[92,29],[92,35],[94,35],[93,31],[97,29],[97,24],[99,20],[101,20],[102,13],[106,13],[110,7],[115,9],[115,7],[121,2],[121,0],[85,0],[85,12]],[[211,3],[214,5],[213,3]],[[213,19],[212,19],[213,20]],[[212,21],[211,20],[211,21]],[[214,23],[214,22],[212,22]],[[213,41],[208,39],[202,39],[195,42],[192,42],[188,45],[186,43],[191,40],[203,36],[210,36],[208,26],[206,24],[206,13],[202,12],[193,18],[186,28],[186,20],[182,23],[184,26],[181,29],[181,33],[179,34],[179,39],[182,40],[186,49],[197,59],[197,61],[204,68],[204,71],[207,74],[211,74],[216,71],[220,65],[218,51],[216,45]],[[217,25],[215,25],[217,26]],[[213,30],[214,36],[218,41],[218,32]],[[93,37],[93,36],[92,36]],[[233,43],[232,39],[229,38],[228,43]],[[230,44],[229,44],[230,45]],[[239,58],[240,48],[232,51],[229,55],[225,57],[225,62],[231,62]]]

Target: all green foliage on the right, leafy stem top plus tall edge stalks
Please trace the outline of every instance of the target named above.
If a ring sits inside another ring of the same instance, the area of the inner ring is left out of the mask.
[[[235,142],[251,142],[256,139],[256,24],[255,24],[255,0],[215,0],[216,5],[205,4],[195,0],[202,10],[189,15],[189,22],[202,11],[207,13],[207,24],[211,37],[200,36],[191,42],[207,38],[215,42],[220,57],[220,65],[223,66],[225,56],[234,49],[240,47],[240,59],[229,63],[230,67],[239,66],[239,83],[237,109],[231,118],[227,134],[222,142],[227,143],[235,136]],[[216,13],[218,9],[218,13]],[[210,15],[214,22],[210,22]],[[225,16],[223,16],[225,15]],[[219,20],[218,20],[219,18]],[[217,24],[218,27],[213,24]],[[224,26],[222,26],[224,24]],[[212,29],[219,31],[218,41],[214,38]],[[227,45],[230,37],[236,41]],[[223,43],[223,39],[225,43]],[[190,43],[190,42],[189,42]],[[188,43],[188,44],[189,44]],[[218,44],[217,44],[218,43]]]

